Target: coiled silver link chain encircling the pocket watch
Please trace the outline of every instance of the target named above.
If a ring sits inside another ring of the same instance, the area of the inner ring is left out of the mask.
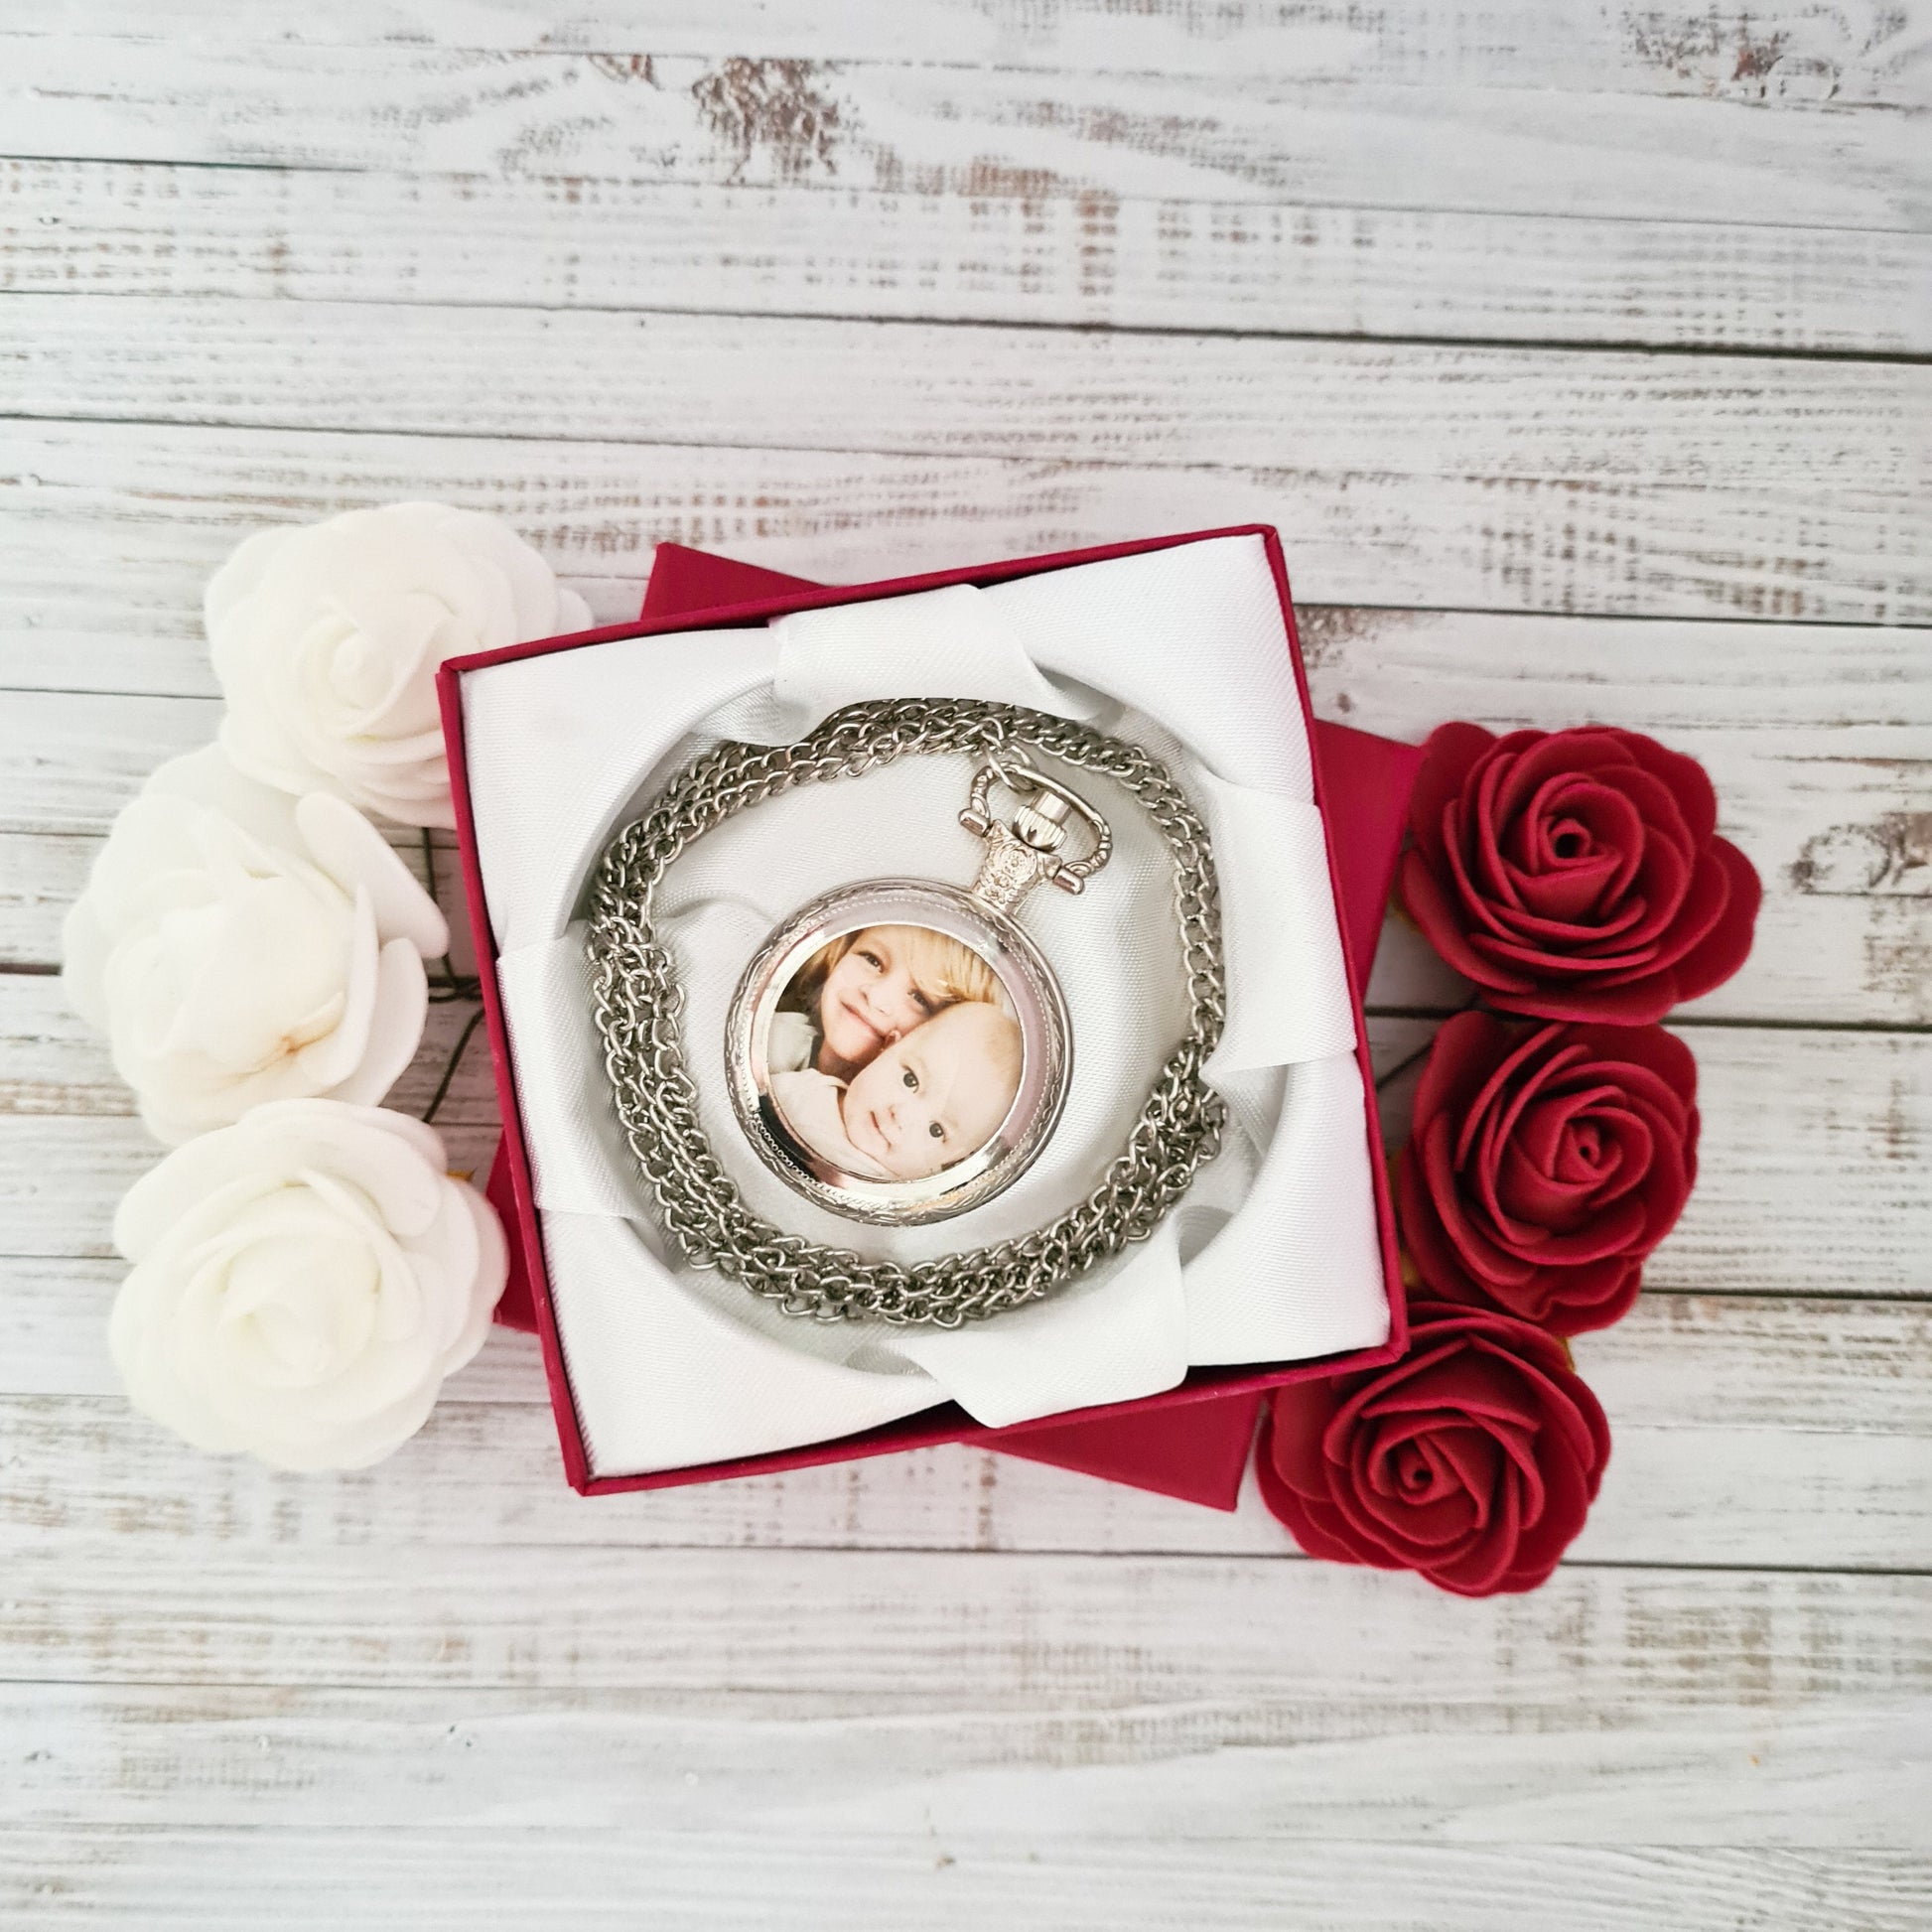
[[[1175,860],[1188,1034],[1105,1179],[1057,1221],[910,1267],[786,1235],[746,1208],[697,1122],[680,1037],[684,989],[651,925],[651,895],[694,838],[798,784],[854,779],[908,753],[985,757],[1003,748],[1107,773],[1159,827]],[[587,954],[605,1072],[659,1225],[692,1265],[730,1275],[790,1316],[960,1327],[1039,1300],[1146,1240],[1221,1148],[1225,1105],[1202,1078],[1227,1018],[1208,829],[1159,759],[1068,719],[1018,705],[895,699],[835,711],[796,744],[721,744],[692,759],[607,846],[591,887]]]

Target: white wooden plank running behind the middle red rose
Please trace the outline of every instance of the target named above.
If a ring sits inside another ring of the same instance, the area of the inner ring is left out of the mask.
[[[1704,1117],[1698,1186],[1656,1287],[1932,1294],[1932,1034],[1687,1028]],[[1391,1117],[1406,1101],[1389,1088]],[[452,1124],[481,1169],[495,1126]],[[0,1250],[108,1252],[114,1202],[156,1157],[131,1119],[0,1115]]]

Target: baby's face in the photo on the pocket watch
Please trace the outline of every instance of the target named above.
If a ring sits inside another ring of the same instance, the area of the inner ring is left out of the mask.
[[[1020,1090],[1020,1028],[960,1001],[893,1041],[846,1088],[846,1138],[895,1180],[922,1180],[993,1138]]]

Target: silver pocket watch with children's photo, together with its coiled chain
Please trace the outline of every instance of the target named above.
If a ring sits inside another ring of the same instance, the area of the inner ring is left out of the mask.
[[[1113,850],[1107,821],[1059,767],[1105,773],[1167,844],[1188,1026],[1080,1200],[1024,1235],[895,1262],[746,1204],[699,1119],[686,1055],[717,1043],[686,1039],[655,895],[686,846],[740,811],[900,757],[956,753],[974,761],[960,823],[985,846],[972,885],[871,879],[829,893],[784,920],[738,983],[724,1068],[734,1126],[757,1157],[837,1215],[912,1227],[991,1200],[1039,1155],[1066,1101],[1074,1041],[1053,970],[1016,914],[1036,887],[1080,893]],[[1208,829],[1144,746],[1072,719],[877,699],[794,744],[713,746],[605,848],[585,958],[611,1099],[667,1244],[790,1316],[960,1327],[1020,1308],[1146,1240],[1221,1148],[1225,1105],[1202,1072],[1227,1010]]]

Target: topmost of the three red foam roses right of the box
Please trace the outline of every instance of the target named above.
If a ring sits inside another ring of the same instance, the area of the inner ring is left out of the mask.
[[[1422,752],[1397,891],[1492,1005],[1640,1026],[1745,964],[1762,887],[1694,757],[1611,726]]]

